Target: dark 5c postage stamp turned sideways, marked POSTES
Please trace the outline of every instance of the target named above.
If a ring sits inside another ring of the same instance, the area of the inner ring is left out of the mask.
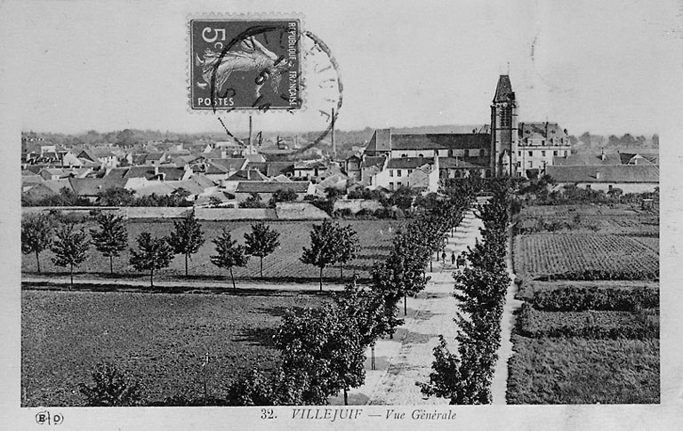
[[[192,110],[301,108],[301,20],[189,20]]]

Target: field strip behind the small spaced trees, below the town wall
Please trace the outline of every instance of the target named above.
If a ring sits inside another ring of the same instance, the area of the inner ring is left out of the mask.
[[[215,267],[210,256],[215,252],[213,238],[221,233],[223,227],[227,227],[233,240],[244,243],[244,235],[251,231],[251,222],[218,222],[204,221],[201,223],[205,233],[205,243],[191,257],[189,261],[190,276],[206,277],[229,277],[229,272],[219,267]],[[280,233],[280,246],[270,256],[263,259],[263,275],[266,278],[293,278],[293,279],[317,279],[318,269],[310,265],[304,265],[299,258],[303,247],[308,247],[310,243],[309,231],[313,226],[312,221],[271,221],[267,224]],[[369,269],[374,260],[384,259],[390,252],[391,239],[393,232],[401,225],[400,221],[392,220],[350,220],[342,221],[341,225],[350,224],[358,232],[360,250],[357,259],[344,266],[344,276],[350,277],[357,272],[361,277],[369,276]],[[88,224],[86,228],[94,225]],[[170,235],[173,230],[173,221],[129,221],[128,238],[131,247],[135,247],[135,239],[141,232],[151,232],[154,236]],[[41,253],[41,269],[44,273],[68,273],[67,268],[56,267],[52,264],[51,251]],[[114,260],[114,272],[120,275],[145,276],[139,275],[133,267],[129,265],[130,253],[124,251],[120,258]],[[23,255],[21,260],[21,270],[26,273],[36,271],[36,258],[34,255]],[[108,259],[104,258],[98,251],[91,249],[88,258],[81,267],[76,269],[78,274],[93,275],[107,274],[109,271]],[[259,259],[251,258],[246,267],[234,268],[237,278],[257,278],[259,277]],[[185,274],[184,256],[177,255],[170,267],[158,272],[155,277],[163,279]],[[339,267],[326,268],[325,277],[334,279],[339,277]],[[229,281],[226,281],[229,283]]]

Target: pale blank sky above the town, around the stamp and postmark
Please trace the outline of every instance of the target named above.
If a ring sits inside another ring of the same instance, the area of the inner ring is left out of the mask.
[[[680,72],[675,1],[5,2],[0,53],[20,70],[21,129],[221,132],[215,115],[188,109],[187,26],[198,12],[300,16],[339,64],[342,130],[486,124],[498,76],[509,73],[520,121],[651,134]],[[236,130],[248,122],[221,118]],[[301,131],[323,128],[321,118],[311,108],[253,121]]]

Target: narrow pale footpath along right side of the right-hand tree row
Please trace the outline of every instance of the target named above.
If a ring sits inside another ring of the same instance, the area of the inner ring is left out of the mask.
[[[515,325],[514,313],[522,306],[522,301],[515,299],[517,285],[512,269],[512,232],[508,229],[508,254],[505,263],[510,275],[510,286],[505,294],[505,305],[502,307],[501,347],[498,347],[498,361],[495,363],[494,381],[491,383],[493,404],[505,404],[508,390],[508,361],[512,355],[512,328]]]

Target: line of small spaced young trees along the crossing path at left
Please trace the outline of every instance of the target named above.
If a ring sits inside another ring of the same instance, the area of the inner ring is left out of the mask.
[[[35,253],[38,273],[40,273],[40,253],[52,250],[52,262],[60,267],[69,267],[71,287],[73,272],[87,256],[91,243],[97,251],[109,259],[109,271],[114,274],[114,258],[128,248],[128,232],[125,219],[113,213],[101,213],[97,217],[99,229],[90,231],[90,238],[84,229],[77,230],[75,223],[55,222],[50,215],[38,214],[27,216],[21,222],[21,250],[25,254]],[[263,258],[277,250],[279,233],[265,223],[252,225],[252,231],[245,234],[245,243],[238,244],[233,240],[228,229],[213,239],[216,253],[211,262],[229,270],[233,288],[236,287],[233,267],[245,267],[250,256],[258,257],[261,278],[263,277]],[[174,255],[181,254],[185,258],[185,275],[188,271],[190,256],[197,253],[205,243],[204,232],[194,213],[188,217],[174,221],[173,231],[167,237],[153,237],[143,232],[137,237],[137,250],[131,249],[130,264],[138,271],[149,271],[150,285],[154,285],[154,273],[168,267]],[[325,267],[338,264],[340,277],[343,277],[343,265],[355,259],[358,254],[358,235],[353,227],[342,227],[337,222],[325,220],[314,225],[310,232],[310,246],[304,248],[301,261],[320,269],[320,290],[323,289],[323,271]]]

